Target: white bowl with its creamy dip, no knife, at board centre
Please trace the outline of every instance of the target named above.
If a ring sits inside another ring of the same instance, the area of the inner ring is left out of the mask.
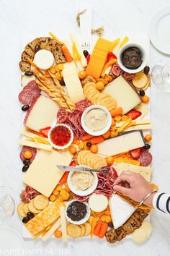
[[[81,125],[89,135],[103,135],[109,130],[111,124],[112,116],[103,106],[90,106],[81,116]]]

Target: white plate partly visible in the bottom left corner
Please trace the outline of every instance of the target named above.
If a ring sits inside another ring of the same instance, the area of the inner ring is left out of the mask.
[[[1,226],[0,241],[1,249],[18,249],[19,254],[17,253],[17,255],[23,255],[22,250],[25,249],[25,244],[22,236],[20,236],[17,231],[6,226]]]

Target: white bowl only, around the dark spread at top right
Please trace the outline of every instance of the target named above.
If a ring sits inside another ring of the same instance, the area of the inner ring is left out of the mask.
[[[127,48],[130,48],[130,47],[139,48],[141,55],[142,55],[143,62],[140,65],[140,67],[138,67],[137,69],[128,69],[127,67],[124,66],[124,64],[122,64],[122,53],[123,53],[123,51],[125,51]],[[148,58],[147,58],[146,50],[137,43],[125,44],[125,46],[122,46],[122,48],[120,48],[120,51],[118,52],[118,55],[117,55],[117,62],[120,65],[121,69],[124,70],[125,72],[131,73],[131,74],[134,74],[134,73],[137,73],[137,72],[140,72],[141,70],[143,70],[144,67],[146,67],[147,60],[148,60]]]

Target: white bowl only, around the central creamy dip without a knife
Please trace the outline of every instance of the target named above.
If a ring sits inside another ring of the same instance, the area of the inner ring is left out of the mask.
[[[91,131],[91,129],[89,129],[87,126],[86,126],[86,123],[85,123],[85,116],[86,114],[91,111],[91,109],[102,109],[106,114],[107,114],[107,117],[108,117],[108,121],[107,121],[107,125],[104,129],[101,129],[99,131]],[[94,135],[94,136],[99,136],[99,135],[103,135],[105,132],[107,132],[109,130],[109,128],[111,127],[111,124],[112,124],[112,116],[111,114],[109,113],[109,111],[107,110],[107,108],[104,108],[104,106],[99,106],[99,105],[93,105],[93,106],[89,106],[89,108],[86,108],[86,110],[84,111],[84,113],[82,114],[81,116],[81,125],[82,127],[84,128],[84,130],[89,134],[89,135]]]

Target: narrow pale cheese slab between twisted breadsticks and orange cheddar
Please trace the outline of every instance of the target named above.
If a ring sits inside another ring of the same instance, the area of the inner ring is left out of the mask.
[[[73,103],[84,99],[84,91],[77,74],[76,64],[73,61],[64,64],[63,80]]]

